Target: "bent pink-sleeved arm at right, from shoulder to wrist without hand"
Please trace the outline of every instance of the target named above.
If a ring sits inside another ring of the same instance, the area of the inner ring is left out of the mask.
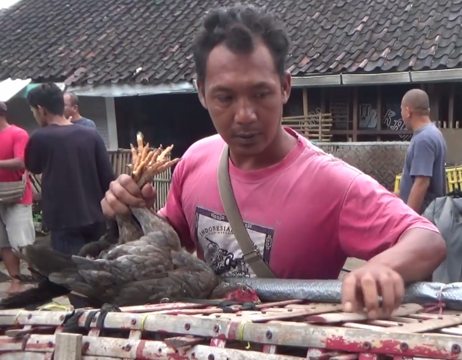
[[[365,174],[348,189],[339,239],[347,256],[390,268],[405,282],[427,278],[446,256],[438,229]]]

